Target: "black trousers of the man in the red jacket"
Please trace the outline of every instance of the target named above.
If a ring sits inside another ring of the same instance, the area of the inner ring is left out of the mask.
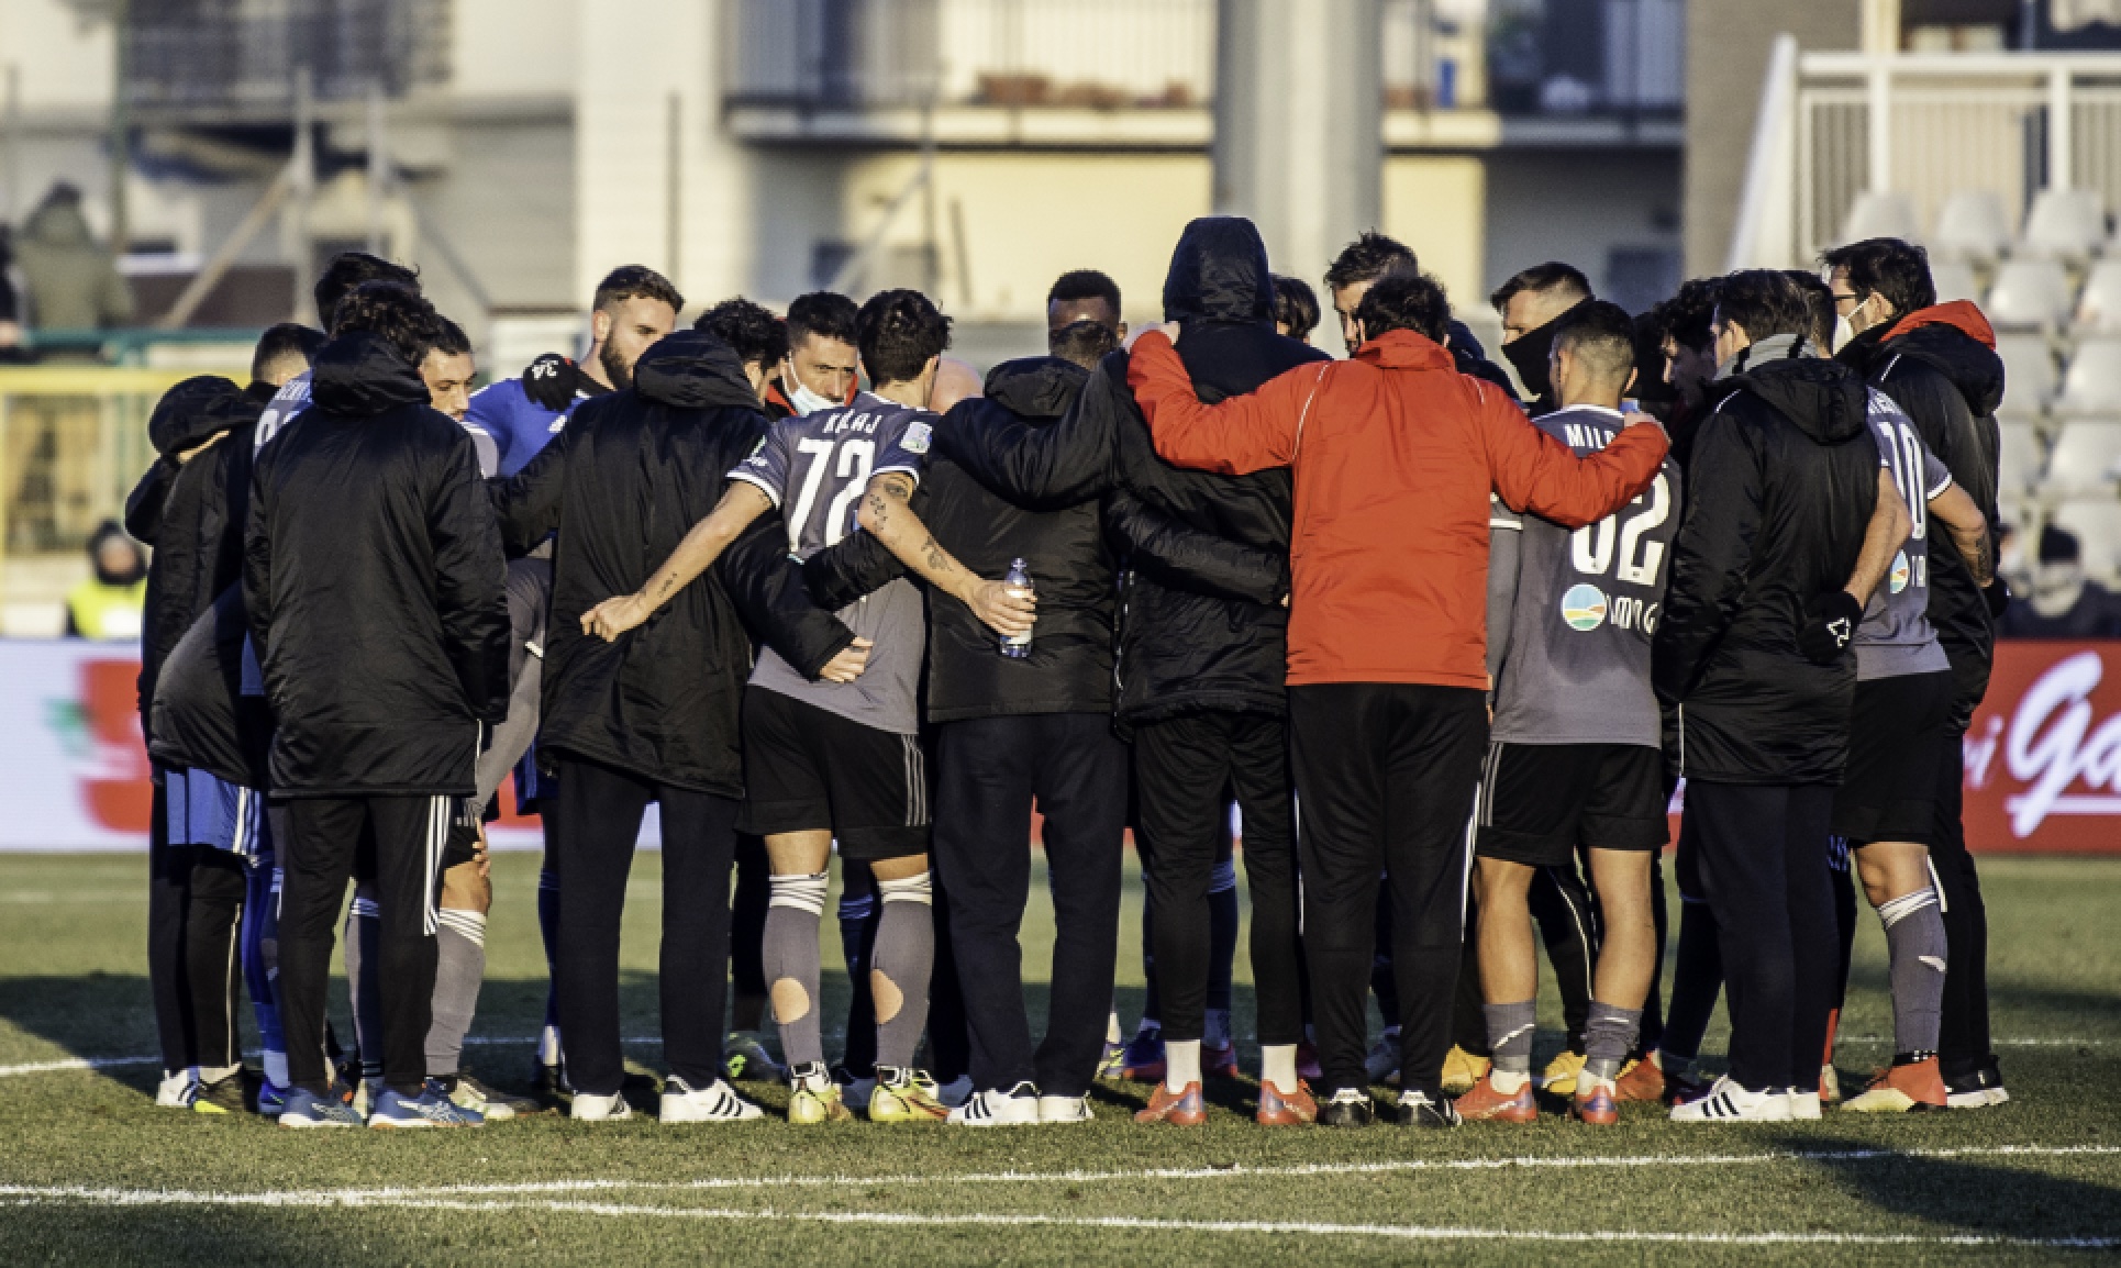
[[[1391,891],[1400,1086],[1440,1096],[1466,937],[1487,700],[1472,687],[1290,687],[1302,799],[1304,952],[1326,1092],[1368,1088],[1366,999],[1379,871]]]

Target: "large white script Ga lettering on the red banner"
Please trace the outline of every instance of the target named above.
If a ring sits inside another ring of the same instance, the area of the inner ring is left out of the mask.
[[[2100,653],[2079,651],[2019,698],[2004,759],[2011,776],[2032,787],[2004,802],[2013,835],[2032,835],[2049,814],[2121,814],[2121,795],[2068,795],[2079,778],[2087,793],[2121,793],[2121,715],[2091,729],[2085,700],[2104,672]]]

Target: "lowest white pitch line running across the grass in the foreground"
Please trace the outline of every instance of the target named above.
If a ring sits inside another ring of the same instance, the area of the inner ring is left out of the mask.
[[[728,1207],[641,1207],[621,1202],[537,1202],[537,1200],[439,1200],[439,1198],[350,1198],[348,1194],[178,1194],[157,1190],[47,1190],[21,1194],[0,1190],[0,1204],[89,1204],[89,1207],[337,1207],[397,1211],[545,1211],[551,1215],[600,1215],[632,1219],[774,1221],[774,1223],[842,1223],[887,1228],[1086,1228],[1126,1232],[1211,1232],[1268,1236],[1366,1236],[1396,1240],[1517,1240],[1574,1245],[1862,1245],[1862,1247],[2028,1247],[2085,1249],[2121,1247],[2121,1236],[2021,1238],[2000,1234],[1858,1234],[1858,1232],[1652,1232],[1652,1230],[1540,1230],[1540,1228],[1453,1228],[1413,1223],[1311,1223],[1266,1219],[1143,1219],[1135,1215],[914,1215],[904,1211],[776,1211],[772,1207],[740,1211]]]

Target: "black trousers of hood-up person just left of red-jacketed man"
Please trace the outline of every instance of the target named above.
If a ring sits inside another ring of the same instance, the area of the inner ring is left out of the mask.
[[[1287,727],[1256,712],[1200,712],[1135,729],[1141,865],[1156,912],[1156,988],[1164,1039],[1200,1039],[1209,978],[1207,886],[1222,848],[1224,789],[1245,816],[1251,980],[1260,1043],[1304,1035],[1296,986],[1296,823]]]

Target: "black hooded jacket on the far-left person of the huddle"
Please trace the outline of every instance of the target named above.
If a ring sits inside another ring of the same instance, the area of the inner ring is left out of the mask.
[[[155,464],[125,498],[125,532],[155,547],[146,570],[146,619],[140,628],[140,712],[161,662],[214,596],[244,577],[244,515],[250,507],[250,430],[271,388],[238,388],[218,375],[185,380],[163,392],[146,420]],[[223,435],[227,433],[227,435]],[[189,462],[178,460],[221,435]]]

